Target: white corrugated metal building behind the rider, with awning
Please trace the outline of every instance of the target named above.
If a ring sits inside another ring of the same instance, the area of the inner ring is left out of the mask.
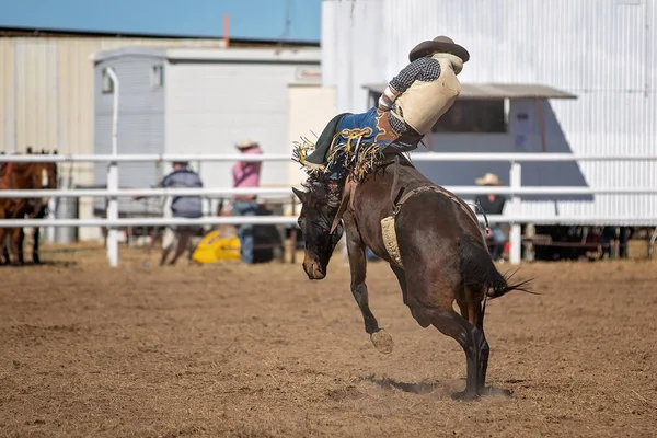
[[[448,35],[470,51],[459,78],[464,94],[474,94],[437,124],[426,139],[433,150],[654,154],[656,19],[655,0],[324,0],[323,84],[336,88],[337,112],[365,111],[416,44]],[[507,87],[477,87],[486,83]],[[527,84],[544,85],[543,93],[514,97]],[[561,99],[563,92],[576,99]],[[445,185],[470,185],[491,171],[508,183],[508,164],[418,168]],[[654,164],[643,162],[527,163],[522,174],[525,185],[656,183]],[[522,211],[652,216],[656,200],[525,196]]]

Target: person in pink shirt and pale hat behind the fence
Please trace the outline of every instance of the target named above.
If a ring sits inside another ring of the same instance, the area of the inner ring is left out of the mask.
[[[244,154],[263,153],[260,145],[250,139],[241,140],[235,147]],[[260,186],[262,162],[238,161],[232,168],[234,188],[254,188]],[[255,195],[234,195],[233,216],[255,216],[257,200]],[[253,263],[253,226],[238,227],[240,239],[240,258],[243,263]]]

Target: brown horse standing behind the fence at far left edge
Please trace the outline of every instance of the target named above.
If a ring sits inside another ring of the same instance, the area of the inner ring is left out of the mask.
[[[28,154],[32,151],[28,149]],[[46,154],[42,150],[42,154]],[[57,152],[55,152],[57,153]],[[44,177],[47,183],[44,184]],[[55,162],[8,162],[0,163],[0,189],[39,189],[57,188],[57,163]],[[0,220],[22,219],[27,216],[31,219],[45,217],[47,212],[48,198],[0,198]],[[10,252],[7,252],[7,240],[10,239]],[[38,254],[41,232],[35,227],[32,249],[32,261],[41,263]],[[0,228],[0,245],[5,262],[13,265],[24,263],[23,257],[24,232],[22,228]]]

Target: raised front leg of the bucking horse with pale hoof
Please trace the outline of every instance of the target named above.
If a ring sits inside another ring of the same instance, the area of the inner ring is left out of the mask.
[[[365,277],[367,273],[366,247],[362,239],[358,234],[356,224],[351,218],[344,218],[347,230],[347,253],[349,255],[349,268],[351,270],[351,293],[358,303],[365,322],[365,331],[369,333],[370,341],[379,353],[389,354],[392,351],[392,337],[379,327],[379,323],[369,308],[369,293]]]

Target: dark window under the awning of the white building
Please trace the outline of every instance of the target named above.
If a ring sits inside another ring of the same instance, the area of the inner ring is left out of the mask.
[[[503,99],[458,100],[431,130],[457,134],[504,134],[507,131],[504,106]]]

